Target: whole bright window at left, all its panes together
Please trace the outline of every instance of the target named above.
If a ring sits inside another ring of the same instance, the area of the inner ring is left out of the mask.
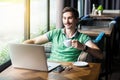
[[[47,31],[47,1],[30,0],[30,37]],[[10,60],[8,43],[21,43],[24,39],[25,0],[0,0],[0,65]],[[50,29],[55,28],[55,2],[50,1]]]

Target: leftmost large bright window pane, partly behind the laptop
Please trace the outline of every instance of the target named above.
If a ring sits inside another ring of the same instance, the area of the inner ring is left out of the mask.
[[[24,0],[0,0],[0,65],[10,60],[8,43],[20,43],[24,34]]]

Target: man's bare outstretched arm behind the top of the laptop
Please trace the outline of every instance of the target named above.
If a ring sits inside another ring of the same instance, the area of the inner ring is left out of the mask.
[[[49,40],[47,36],[44,34],[33,39],[25,40],[23,44],[44,44],[46,42],[49,42]]]

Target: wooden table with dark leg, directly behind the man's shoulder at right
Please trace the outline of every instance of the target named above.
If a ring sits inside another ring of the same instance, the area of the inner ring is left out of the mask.
[[[88,26],[89,27],[89,26]],[[112,27],[105,27],[105,28],[99,28],[99,26],[96,26],[96,29],[86,29],[82,30],[80,29],[79,31],[81,33],[87,34],[89,36],[98,36],[100,32],[105,33],[105,69],[106,69],[106,80],[108,78],[108,73],[111,72],[111,57],[112,57],[112,41],[113,41],[113,34],[114,34],[114,26]]]

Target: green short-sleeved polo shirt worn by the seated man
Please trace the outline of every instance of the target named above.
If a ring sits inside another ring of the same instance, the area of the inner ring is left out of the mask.
[[[74,62],[77,61],[81,50],[76,48],[66,47],[64,45],[64,40],[67,39],[64,29],[54,29],[46,33],[48,40],[52,42],[51,55],[48,60],[59,61],[59,62]],[[76,34],[71,38],[71,40],[78,40],[80,43],[85,44],[90,37],[76,31]]]

